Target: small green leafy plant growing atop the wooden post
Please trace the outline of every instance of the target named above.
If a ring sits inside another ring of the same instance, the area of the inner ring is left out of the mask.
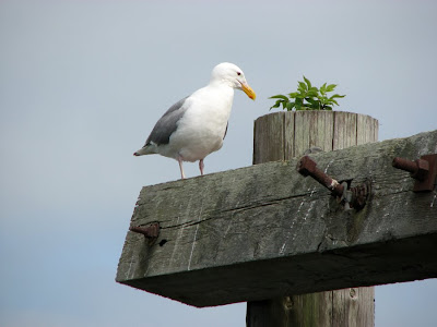
[[[345,95],[334,94],[331,97],[328,97],[328,93],[331,93],[336,87],[335,84],[324,83],[320,89],[312,86],[311,82],[304,76],[304,82],[298,82],[297,92],[293,92],[288,94],[288,97],[285,95],[275,95],[270,97],[269,99],[277,99],[276,102],[270,107],[279,108],[282,105],[282,108],[287,111],[292,111],[293,108],[296,110],[332,110],[334,105],[339,106],[336,102],[336,98],[344,98]]]

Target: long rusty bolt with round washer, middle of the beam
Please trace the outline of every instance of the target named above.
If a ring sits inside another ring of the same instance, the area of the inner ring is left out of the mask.
[[[361,184],[355,187],[349,187],[346,182],[339,183],[323,171],[317,168],[316,161],[310,157],[304,156],[297,164],[297,171],[304,175],[310,175],[317,182],[322,184],[339,202],[344,204],[345,209],[362,209],[366,205],[368,194],[370,194],[370,185],[368,183]]]

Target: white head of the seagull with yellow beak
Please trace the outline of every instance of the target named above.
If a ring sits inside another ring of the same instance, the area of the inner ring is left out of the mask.
[[[233,88],[243,89],[252,100],[257,97],[255,90],[247,83],[245,73],[233,63],[223,62],[214,66],[211,73],[211,82],[226,83]]]

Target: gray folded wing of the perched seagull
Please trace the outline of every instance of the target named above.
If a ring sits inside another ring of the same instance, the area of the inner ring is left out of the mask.
[[[147,141],[145,141],[144,146],[149,145],[151,142],[156,145],[168,144],[170,135],[177,130],[177,122],[187,111],[187,107],[184,107],[187,98],[188,97],[185,97],[177,101],[164,113],[164,116],[156,122],[152,133],[147,137]]]

